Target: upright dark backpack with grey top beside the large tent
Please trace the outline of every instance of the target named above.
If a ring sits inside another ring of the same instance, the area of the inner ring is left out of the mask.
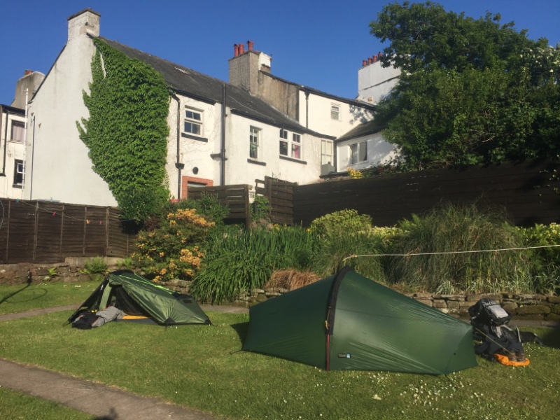
[[[510,327],[512,314],[489,298],[479,300],[468,309],[473,328],[475,353],[510,365],[526,365],[521,333]]]

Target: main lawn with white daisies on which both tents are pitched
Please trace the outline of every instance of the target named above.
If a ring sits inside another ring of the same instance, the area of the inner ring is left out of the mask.
[[[31,363],[230,419],[554,419],[560,405],[560,331],[532,329],[528,367],[478,359],[447,377],[325,372],[239,351],[248,314],[209,312],[214,325],[163,328],[62,324],[64,311],[0,323],[0,357]]]

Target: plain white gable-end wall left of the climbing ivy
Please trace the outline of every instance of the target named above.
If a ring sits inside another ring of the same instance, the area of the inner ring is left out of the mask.
[[[89,116],[82,92],[89,92],[94,51],[87,34],[70,39],[29,105],[27,200],[117,204],[107,183],[92,171],[76,128],[76,121]]]

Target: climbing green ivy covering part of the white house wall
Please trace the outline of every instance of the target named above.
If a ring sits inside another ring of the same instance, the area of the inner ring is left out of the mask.
[[[124,218],[146,221],[169,198],[169,92],[163,76],[99,38],[92,59],[90,118],[76,122],[94,172],[109,184]]]

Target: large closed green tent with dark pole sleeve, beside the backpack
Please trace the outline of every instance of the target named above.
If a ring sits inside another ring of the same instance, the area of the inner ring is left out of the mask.
[[[350,267],[251,307],[243,349],[325,370],[447,374],[477,365],[468,323]]]

